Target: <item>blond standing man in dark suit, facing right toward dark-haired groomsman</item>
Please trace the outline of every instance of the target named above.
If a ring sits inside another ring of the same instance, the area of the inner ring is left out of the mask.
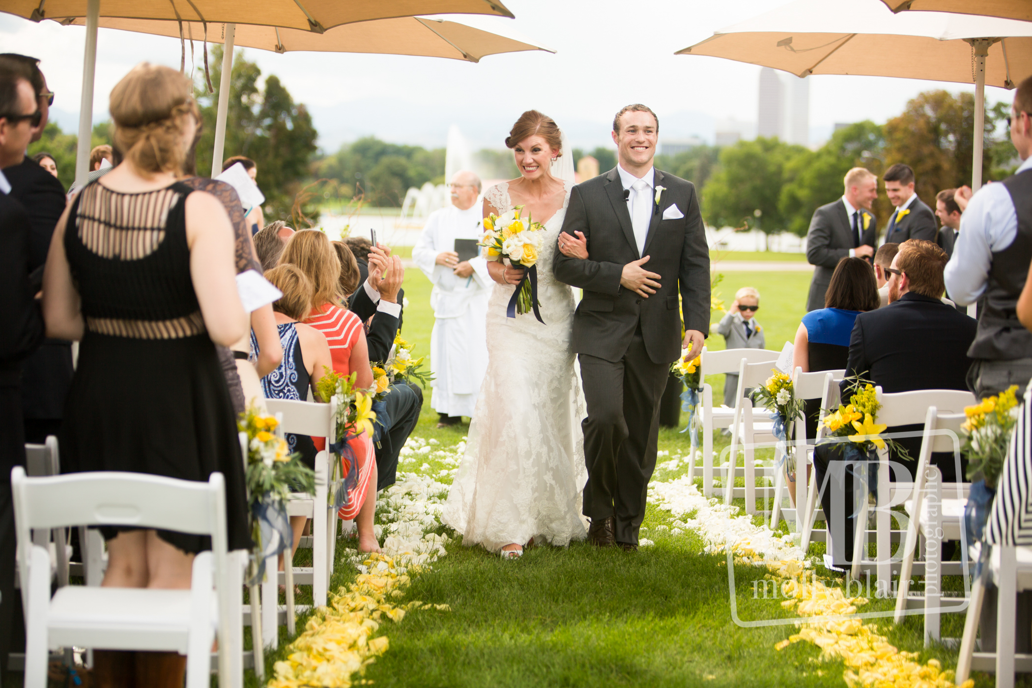
[[[871,215],[871,203],[878,197],[878,178],[863,167],[853,167],[842,183],[842,198],[818,207],[806,234],[806,260],[816,266],[807,310],[825,307],[825,293],[840,260],[859,257],[870,261],[874,257],[877,220]]]

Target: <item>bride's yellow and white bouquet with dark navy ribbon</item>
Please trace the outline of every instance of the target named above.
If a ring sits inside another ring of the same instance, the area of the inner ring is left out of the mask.
[[[487,249],[488,258],[507,259],[513,267],[524,267],[526,272],[516,287],[516,292],[509,301],[507,315],[515,318],[516,314],[524,315],[534,310],[539,322],[538,313],[538,255],[545,243],[545,226],[534,222],[530,214],[520,217],[523,206],[517,205],[501,217],[493,212],[484,218],[484,236],[478,244]]]

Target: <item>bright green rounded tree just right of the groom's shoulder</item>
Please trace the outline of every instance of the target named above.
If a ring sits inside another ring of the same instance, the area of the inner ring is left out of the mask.
[[[703,218],[717,227],[759,224],[767,233],[782,231],[785,221],[778,197],[785,166],[805,153],[802,145],[763,137],[721,149],[719,163],[703,189]]]

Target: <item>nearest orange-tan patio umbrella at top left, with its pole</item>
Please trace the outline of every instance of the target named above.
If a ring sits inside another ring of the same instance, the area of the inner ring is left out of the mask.
[[[513,18],[513,13],[498,0],[104,0],[103,12],[100,0],[5,0],[0,11],[34,22],[50,19],[70,24],[75,19],[85,19],[86,51],[75,158],[76,185],[84,184],[89,173],[93,76],[101,13],[105,18],[166,20],[176,25],[180,22],[198,22],[202,27],[198,39],[203,38],[206,33],[203,29],[208,24],[224,24],[226,54],[230,62],[235,24],[278,26],[322,34],[343,24],[416,14],[466,13]],[[228,78],[227,66],[230,65],[223,65],[223,79]],[[216,139],[221,140],[225,135],[226,106],[223,102],[219,103],[218,111],[218,121],[223,128],[220,132],[216,127]]]

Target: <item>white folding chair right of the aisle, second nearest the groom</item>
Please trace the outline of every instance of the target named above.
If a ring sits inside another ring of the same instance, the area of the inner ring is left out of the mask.
[[[730,504],[733,497],[745,498],[745,513],[756,513],[756,473],[763,478],[774,478],[776,467],[763,466],[759,470],[755,465],[755,446],[757,444],[772,445],[775,441],[774,423],[770,420],[770,412],[766,408],[753,414],[752,399],[745,396],[747,388],[762,386],[771,376],[774,367],[771,361],[749,363],[742,358],[738,366],[738,394],[735,403],[735,416],[731,425],[731,453],[729,455],[727,479],[723,482],[723,503]],[[762,420],[761,420],[762,419]],[[743,448],[745,455],[741,473],[738,468],[738,448]],[[776,463],[776,461],[775,461]],[[745,486],[735,487],[735,479],[744,476]],[[764,488],[765,494],[767,488]],[[764,500],[766,504],[766,499]],[[766,511],[766,506],[765,506]]]

